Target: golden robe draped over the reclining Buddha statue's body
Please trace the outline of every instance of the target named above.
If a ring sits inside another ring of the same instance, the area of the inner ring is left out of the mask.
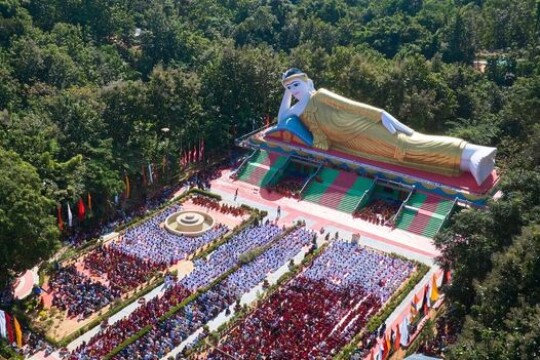
[[[319,89],[300,119],[313,134],[316,148],[447,176],[461,173],[466,141],[418,132],[391,134],[382,123],[382,113],[382,109]]]

